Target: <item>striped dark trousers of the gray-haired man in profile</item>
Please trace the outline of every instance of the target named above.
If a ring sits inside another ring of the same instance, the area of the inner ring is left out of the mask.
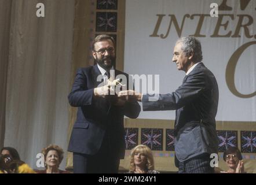
[[[214,168],[210,166],[210,161],[210,154],[200,154],[180,162],[178,173],[214,173]]]

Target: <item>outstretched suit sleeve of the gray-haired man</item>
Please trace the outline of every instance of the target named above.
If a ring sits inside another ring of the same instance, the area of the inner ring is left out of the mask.
[[[188,75],[185,82],[171,94],[149,95],[142,97],[143,110],[176,110],[194,101],[207,88],[206,76],[201,73]],[[151,101],[152,97],[158,97],[156,101]]]

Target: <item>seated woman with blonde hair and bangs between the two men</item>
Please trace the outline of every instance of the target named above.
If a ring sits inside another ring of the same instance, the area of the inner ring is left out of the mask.
[[[159,173],[154,170],[153,154],[148,146],[138,145],[131,150],[128,173]]]

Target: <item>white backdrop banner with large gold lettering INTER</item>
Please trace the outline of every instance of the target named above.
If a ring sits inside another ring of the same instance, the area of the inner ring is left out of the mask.
[[[218,12],[210,8],[214,2]],[[218,82],[216,120],[256,121],[255,8],[256,1],[126,1],[124,71],[160,75],[160,92],[172,92],[185,76],[172,62],[175,42],[195,36],[202,43],[203,63]],[[175,112],[141,112],[140,118],[172,120]]]

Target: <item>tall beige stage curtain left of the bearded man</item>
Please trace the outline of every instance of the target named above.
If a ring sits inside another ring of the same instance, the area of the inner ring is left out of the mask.
[[[36,17],[39,2],[45,5],[45,17]],[[2,32],[10,36],[9,43],[8,37],[0,42],[1,71],[8,62],[4,145],[16,148],[21,160],[37,168],[36,154],[50,143],[67,153],[75,1],[7,0],[1,1],[0,6],[1,15],[5,13],[7,18],[9,6],[11,9],[9,23],[0,17],[1,41]],[[1,88],[5,87],[2,75],[1,72]],[[2,97],[1,94],[1,125]],[[62,162],[60,168],[64,167]]]

